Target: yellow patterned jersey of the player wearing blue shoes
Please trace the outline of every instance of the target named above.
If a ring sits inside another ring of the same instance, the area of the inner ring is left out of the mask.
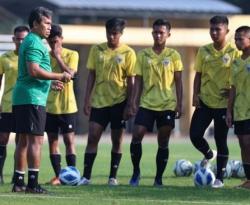
[[[181,57],[174,49],[165,48],[159,55],[152,48],[141,50],[135,66],[136,75],[143,78],[140,106],[155,111],[175,110],[174,72],[182,70]]]

